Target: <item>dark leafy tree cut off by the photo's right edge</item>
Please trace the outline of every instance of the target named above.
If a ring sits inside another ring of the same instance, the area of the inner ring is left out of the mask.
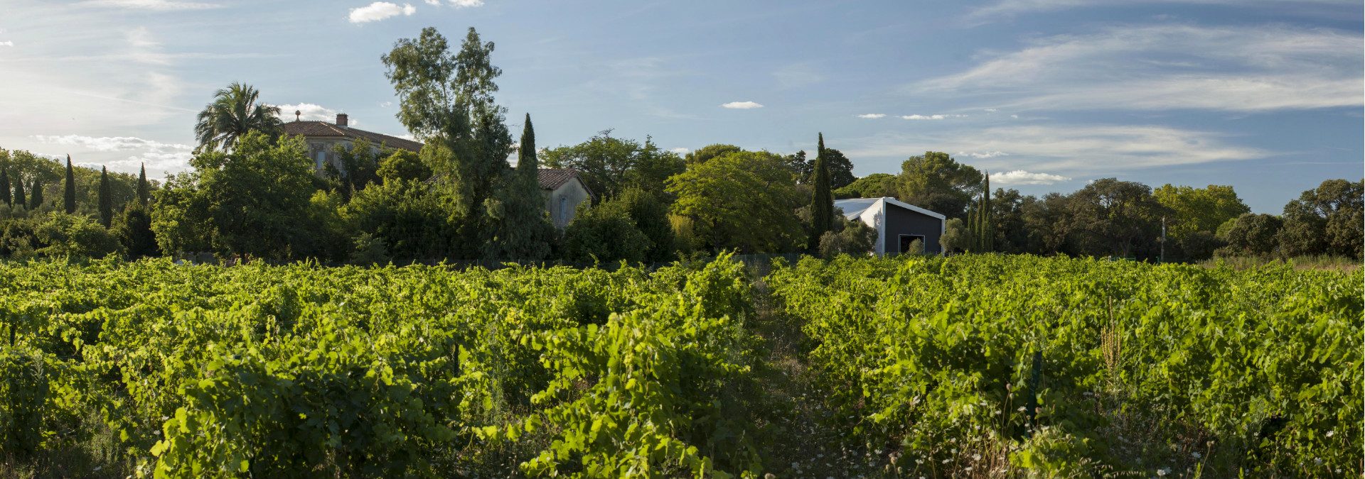
[[[1365,234],[1361,195],[1365,182],[1327,180],[1284,205],[1280,246],[1286,254],[1339,254],[1361,257]]]

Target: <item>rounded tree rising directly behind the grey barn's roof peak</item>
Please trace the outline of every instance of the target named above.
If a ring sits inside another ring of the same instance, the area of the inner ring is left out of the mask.
[[[981,191],[981,171],[942,151],[910,156],[901,163],[898,180],[900,200],[949,218],[962,218]]]

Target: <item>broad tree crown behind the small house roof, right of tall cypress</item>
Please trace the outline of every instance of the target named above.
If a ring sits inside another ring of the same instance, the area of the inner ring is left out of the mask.
[[[644,143],[612,137],[603,131],[587,142],[561,146],[545,152],[545,165],[577,170],[594,195],[614,197],[628,188],[662,191],[665,180],[684,169],[681,156],[661,150],[650,137]]]

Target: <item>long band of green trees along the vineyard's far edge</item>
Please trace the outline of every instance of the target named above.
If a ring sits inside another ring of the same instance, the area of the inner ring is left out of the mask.
[[[1360,259],[1365,242],[1365,188],[1346,180],[1304,192],[1275,216],[1250,214],[1224,185],[1153,191],[1102,178],[1070,195],[991,191],[986,171],[935,151],[906,159],[900,174],[856,178],[852,161],[823,136],[814,158],[732,144],[678,155],[612,131],[539,150],[530,114],[515,142],[506,109],[494,102],[501,69],[490,63],[493,50],[474,29],[457,50],[435,29],[396,42],[381,61],[400,99],[399,120],[425,147],[356,142],[334,150],[337,165],[321,173],[302,137],[278,135],[278,109],[236,83],[198,116],[192,170],[162,185],[68,167],[75,193],[67,207],[60,162],[0,150],[10,199],[0,211],[0,256],[212,253],[405,264],[663,263],[719,250],[859,254],[872,249],[876,233],[835,214],[833,201],[880,196],[949,216],[942,246],[956,252]],[[562,231],[549,219],[541,166],[580,171],[595,196]]]

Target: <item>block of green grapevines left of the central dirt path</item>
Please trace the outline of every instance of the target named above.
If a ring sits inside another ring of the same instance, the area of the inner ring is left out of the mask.
[[[0,264],[0,445],[109,430],[120,476],[756,471],[749,288],[728,259]]]

